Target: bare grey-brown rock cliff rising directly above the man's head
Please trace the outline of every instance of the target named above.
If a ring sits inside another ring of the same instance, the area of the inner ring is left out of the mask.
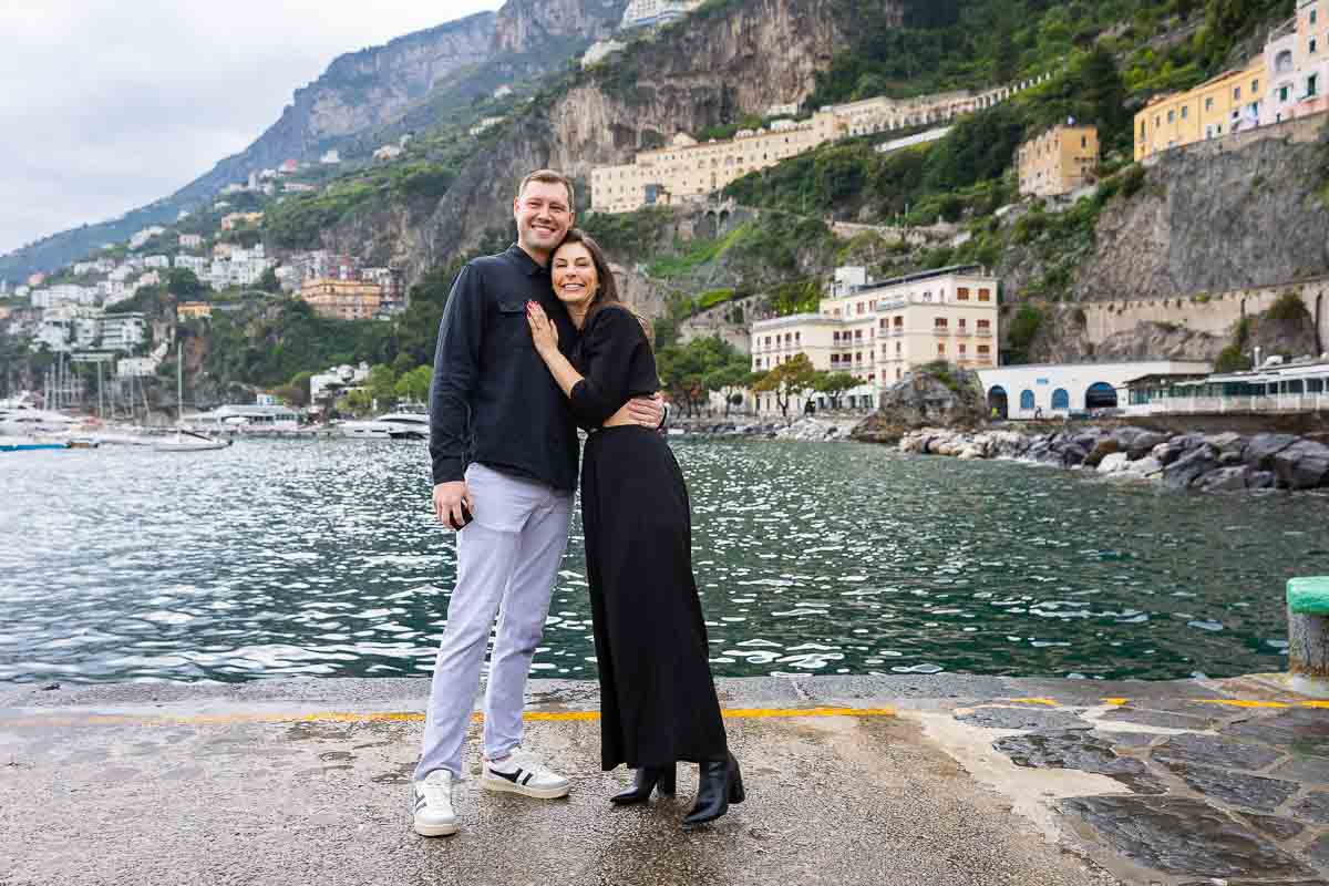
[[[562,5],[566,0],[561,0]],[[873,15],[900,19],[897,0],[872,0]],[[621,163],[678,132],[801,101],[815,73],[848,45],[855,23],[833,0],[748,0],[703,7],[621,57],[569,76],[459,175],[424,226],[408,264],[431,264],[470,247],[509,217],[513,187],[541,166],[585,177]]]

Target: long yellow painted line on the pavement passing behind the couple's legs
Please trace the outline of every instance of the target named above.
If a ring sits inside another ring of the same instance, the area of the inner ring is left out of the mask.
[[[893,717],[894,708],[734,708],[722,711],[726,719],[783,719],[783,717]],[[344,712],[323,711],[318,713],[198,713],[191,716],[149,716],[92,715],[86,717],[36,716],[13,720],[0,720],[0,727],[105,727],[105,725],[238,725],[245,723],[423,723],[425,715],[413,711],[369,711]],[[476,712],[470,717],[484,721],[484,715]],[[528,711],[522,715],[529,721],[587,721],[599,720],[599,711]]]

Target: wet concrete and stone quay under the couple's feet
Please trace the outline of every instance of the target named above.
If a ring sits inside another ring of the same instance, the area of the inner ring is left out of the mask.
[[[427,680],[0,689],[0,883],[1329,886],[1329,709],[1255,679],[722,680],[748,801],[614,809],[595,687],[532,683],[541,802],[409,828]],[[472,743],[472,749],[474,743]],[[474,754],[473,754],[474,761]]]

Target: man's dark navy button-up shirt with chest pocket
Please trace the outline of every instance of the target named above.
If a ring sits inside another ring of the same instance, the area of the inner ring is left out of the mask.
[[[433,482],[464,478],[466,465],[571,491],[577,426],[567,399],[536,353],[526,302],[558,325],[567,353],[577,331],[554,298],[549,270],[518,246],[461,270],[439,324],[429,391]]]

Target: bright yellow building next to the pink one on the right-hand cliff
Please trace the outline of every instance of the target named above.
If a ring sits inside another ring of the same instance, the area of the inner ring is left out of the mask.
[[[1155,97],[1135,114],[1135,159],[1259,126],[1267,86],[1260,54],[1195,89]]]

